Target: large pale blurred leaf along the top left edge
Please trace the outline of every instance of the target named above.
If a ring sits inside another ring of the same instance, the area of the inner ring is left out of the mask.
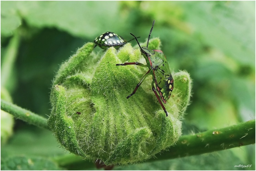
[[[95,32],[100,34],[102,27],[111,29],[118,23],[115,18],[118,15],[117,1],[6,1],[1,4],[3,4],[1,8],[9,7],[8,10],[4,10],[6,13],[10,11],[19,13],[29,26],[56,27],[74,36],[86,37],[94,35]],[[109,6],[111,8],[108,8]],[[17,16],[13,16],[6,21],[17,23],[17,19]],[[1,25],[1,28],[4,28],[4,31],[11,31],[9,27],[5,28]]]

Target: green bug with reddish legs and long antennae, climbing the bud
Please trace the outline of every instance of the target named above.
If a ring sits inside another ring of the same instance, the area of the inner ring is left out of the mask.
[[[158,93],[160,94],[160,97],[161,97],[163,103],[166,103],[166,101],[170,98],[172,90],[174,88],[173,78],[171,75],[171,71],[170,71],[166,56],[163,54],[163,52],[161,50],[148,49],[148,42],[149,42],[150,34],[154,27],[154,23],[155,23],[155,20],[153,21],[151,30],[148,35],[147,47],[141,47],[141,45],[139,45],[137,38],[133,34],[130,33],[137,41],[139,48],[141,49],[141,53],[147,62],[147,65],[144,65],[144,64],[138,63],[138,62],[126,62],[124,64],[116,64],[116,65],[123,65],[123,66],[139,65],[142,67],[148,67],[149,70],[147,71],[147,73],[142,77],[141,81],[139,81],[139,83],[137,84],[134,91],[129,96],[127,96],[127,98],[129,98],[133,94],[135,94],[135,92],[137,91],[138,87],[141,85],[143,80],[148,75],[151,74],[153,77],[153,81],[151,82],[152,90],[154,91],[160,105],[162,106],[163,111],[166,113],[166,116],[168,116],[168,113],[167,113],[165,107],[163,106],[163,104],[156,92],[156,89],[157,89]],[[155,86],[154,86],[154,83],[155,83]]]

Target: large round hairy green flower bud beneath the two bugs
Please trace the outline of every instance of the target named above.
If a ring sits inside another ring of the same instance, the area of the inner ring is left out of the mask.
[[[159,46],[158,38],[150,40],[150,49]],[[173,74],[175,89],[165,105],[166,117],[150,76],[126,99],[147,70],[115,64],[145,63],[139,49],[130,43],[118,51],[111,47],[99,60],[93,47],[87,43],[78,49],[53,81],[48,124],[58,141],[70,152],[105,165],[149,159],[173,145],[181,135],[180,119],[191,95],[188,73]]]

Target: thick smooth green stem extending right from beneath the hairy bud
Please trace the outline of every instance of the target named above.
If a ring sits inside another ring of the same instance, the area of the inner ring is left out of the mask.
[[[181,136],[175,146],[169,147],[168,151],[158,153],[156,158],[147,161],[199,155],[249,144],[255,144],[255,120],[195,135]]]

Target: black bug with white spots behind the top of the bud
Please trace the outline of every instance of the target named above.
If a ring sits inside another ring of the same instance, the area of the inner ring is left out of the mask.
[[[122,47],[124,44],[126,44],[127,42],[130,42],[131,40],[126,41],[121,36],[118,36],[114,32],[108,31],[95,38],[94,48],[98,46],[103,50],[106,50],[109,47],[114,47],[115,49],[118,49]]]

